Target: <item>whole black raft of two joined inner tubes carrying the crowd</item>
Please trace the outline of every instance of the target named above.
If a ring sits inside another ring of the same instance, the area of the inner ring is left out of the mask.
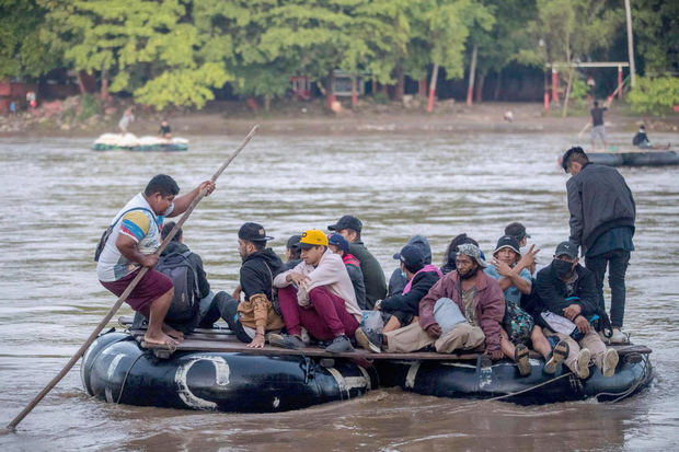
[[[130,325],[131,318],[122,323]],[[271,413],[358,397],[378,385],[533,405],[587,398],[615,402],[653,381],[652,350],[635,345],[613,346],[620,355],[613,376],[605,378],[591,367],[590,376],[580,380],[565,367],[555,375],[544,374],[542,358],[531,358],[532,372],[520,376],[514,362],[484,367],[476,354],[251,349],[228,329],[196,331],[176,350],[146,349],[139,345],[143,333],[110,332],[88,349],[81,378],[90,395],[140,406]]]

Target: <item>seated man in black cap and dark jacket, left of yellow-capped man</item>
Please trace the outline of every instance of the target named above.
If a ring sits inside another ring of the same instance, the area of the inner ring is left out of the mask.
[[[226,292],[215,295],[217,309],[211,310],[208,321],[215,322],[219,316],[227,321],[235,337],[248,343],[251,348],[262,348],[265,333],[280,331],[283,318],[273,306],[275,291],[274,277],[283,267],[280,257],[266,242],[272,240],[261,224],[248,222],[238,231],[238,251],[243,259],[240,270],[238,299]],[[240,292],[245,300],[239,302]]]

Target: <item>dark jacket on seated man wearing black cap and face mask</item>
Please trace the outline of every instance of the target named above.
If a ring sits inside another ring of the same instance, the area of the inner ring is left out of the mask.
[[[536,290],[542,308],[562,316],[564,315],[563,310],[571,304],[579,304],[583,309],[582,314],[585,316],[590,316],[598,311],[599,294],[595,274],[579,264],[575,267],[575,271],[577,279],[575,280],[574,293],[571,297],[579,297],[579,300],[576,301],[566,301],[568,298],[566,285],[552,270],[551,264],[538,271]]]

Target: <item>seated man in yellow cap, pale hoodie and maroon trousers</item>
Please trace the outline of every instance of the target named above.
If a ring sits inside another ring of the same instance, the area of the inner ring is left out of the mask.
[[[342,258],[327,248],[327,236],[310,229],[299,241],[303,262],[274,278],[287,335],[269,334],[273,346],[302,348],[301,327],[318,340],[332,340],[325,350],[352,351],[349,337],[361,312]]]

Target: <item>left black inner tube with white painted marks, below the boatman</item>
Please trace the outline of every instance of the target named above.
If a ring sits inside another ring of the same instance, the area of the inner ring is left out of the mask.
[[[100,336],[80,370],[88,394],[108,403],[230,413],[345,401],[377,387],[378,381],[372,369],[349,360],[215,351],[177,351],[159,359],[127,333]]]

